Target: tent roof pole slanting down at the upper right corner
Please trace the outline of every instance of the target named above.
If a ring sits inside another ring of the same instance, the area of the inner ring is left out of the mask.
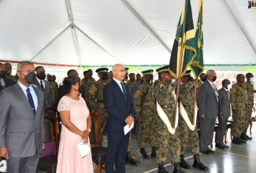
[[[235,20],[235,22],[236,22],[236,24],[237,24],[239,30],[242,32],[244,38],[247,40],[247,43],[249,44],[250,49],[254,52],[254,55],[256,56],[256,49],[254,48],[253,43],[250,41],[250,38],[249,38],[248,35],[247,35],[247,31],[245,31],[245,30],[243,29],[242,24],[240,24],[239,20],[238,20],[237,17],[236,17],[236,14],[233,13],[232,8],[231,8],[231,6],[228,4],[228,2],[226,2],[226,0],[223,0],[223,1],[224,1],[225,6],[227,7],[229,13],[231,13],[231,16],[232,16],[233,19]]]

